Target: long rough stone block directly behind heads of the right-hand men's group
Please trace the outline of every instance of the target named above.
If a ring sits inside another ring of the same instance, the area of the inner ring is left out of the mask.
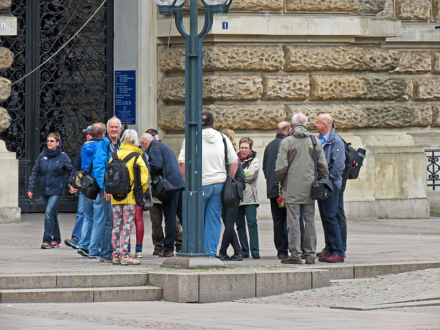
[[[428,126],[432,123],[432,110],[425,104],[413,107],[383,103],[287,106],[289,118],[299,111],[307,115],[310,126],[320,113],[330,113],[338,129]]]

